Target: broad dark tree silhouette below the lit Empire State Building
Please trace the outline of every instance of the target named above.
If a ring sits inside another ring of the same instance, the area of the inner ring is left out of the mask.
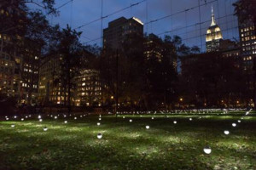
[[[180,95],[184,102],[197,107],[236,105],[245,99],[244,71],[240,61],[220,53],[193,54],[182,59]],[[244,97],[244,98],[242,98]]]

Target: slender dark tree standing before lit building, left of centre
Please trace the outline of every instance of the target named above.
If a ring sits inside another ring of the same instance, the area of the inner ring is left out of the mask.
[[[83,46],[79,42],[81,32],[72,30],[69,26],[58,31],[56,38],[58,41],[52,44],[50,55],[61,58],[60,74],[55,76],[55,82],[61,83],[64,94],[64,105],[71,111],[73,91],[76,88],[75,77],[79,76],[81,58],[83,56]]]

